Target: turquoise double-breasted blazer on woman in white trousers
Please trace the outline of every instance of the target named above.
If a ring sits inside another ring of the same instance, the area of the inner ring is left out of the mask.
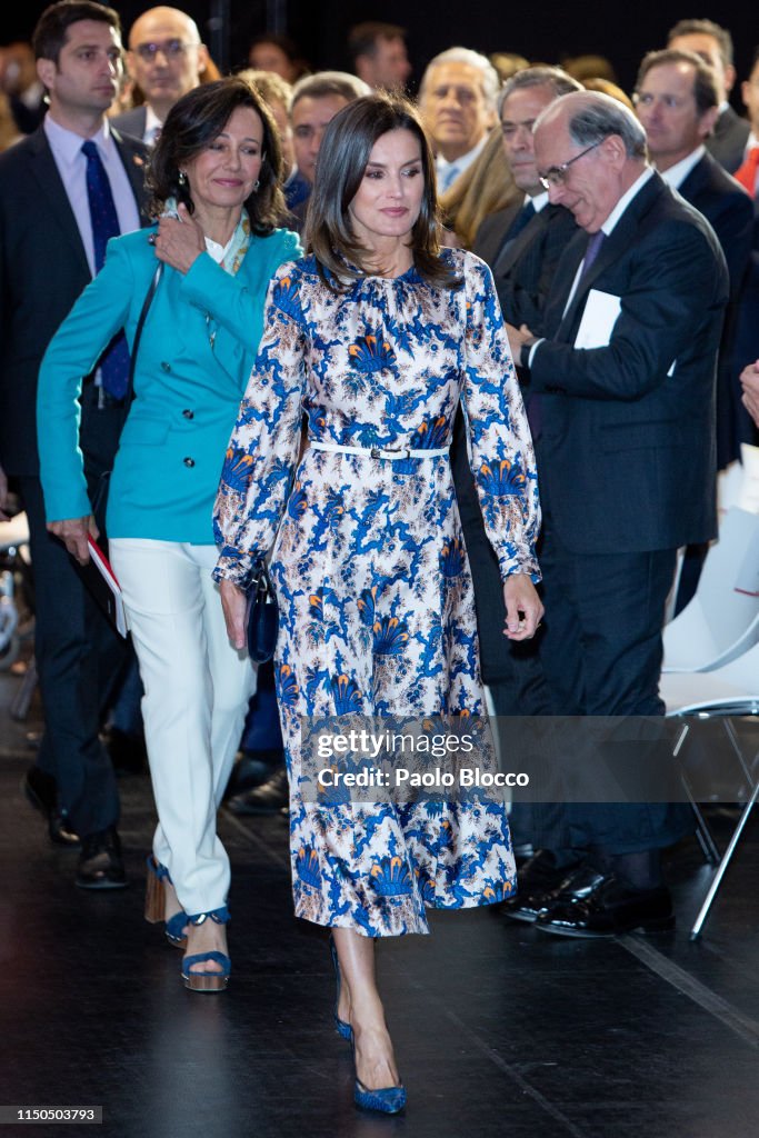
[[[102,349],[124,329],[132,346],[156,256],[139,230],[108,244],[40,369],[38,442],[48,521],[91,513],[79,448],[79,396]],[[251,237],[237,275],[200,254],[168,265],[142,329],[134,402],[108,493],[109,537],[213,544],[212,513],[226,445],[263,332],[270,278],[300,256],[289,230]]]

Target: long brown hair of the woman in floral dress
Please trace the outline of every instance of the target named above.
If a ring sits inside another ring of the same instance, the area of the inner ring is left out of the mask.
[[[356,239],[348,207],[361,185],[372,147],[390,131],[411,131],[419,140],[424,192],[419,217],[411,231],[414,266],[430,284],[455,288],[461,281],[439,257],[438,208],[435,160],[416,108],[395,92],[378,91],[343,107],[335,115],[319,150],[316,179],[308,199],[306,239],[319,262],[322,278],[331,288],[325,270],[340,279],[358,278],[368,270],[366,250]],[[358,266],[352,271],[343,258]]]

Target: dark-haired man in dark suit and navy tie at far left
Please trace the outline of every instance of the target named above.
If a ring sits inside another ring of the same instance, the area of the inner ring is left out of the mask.
[[[50,836],[79,844],[77,884],[125,884],[115,826],[118,793],[98,729],[124,663],[124,642],[90,601],[64,545],[46,528],[36,452],[36,377],[51,337],[94,272],[91,162],[99,163],[122,232],[140,225],[147,151],[108,126],[122,73],[118,15],[91,0],[52,5],[34,32],[49,112],[0,156],[0,462],[28,516],[35,579],[35,657],[46,733],[27,795]],[[94,155],[84,151],[94,143]],[[101,183],[102,184],[102,183]],[[91,378],[82,396],[81,446],[92,492],[110,469],[123,399]],[[49,424],[55,430],[55,423]]]

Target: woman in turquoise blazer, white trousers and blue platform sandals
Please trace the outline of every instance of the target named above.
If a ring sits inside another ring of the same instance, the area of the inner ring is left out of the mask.
[[[41,477],[49,528],[85,561],[94,523],[77,447],[77,399],[113,337],[123,329],[132,345],[163,263],[110,478],[107,529],[145,686],[159,819],[146,916],[165,920],[168,939],[187,945],[185,986],[221,991],[230,972],[230,873],[216,809],[255,674],[229,642],[211,578],[212,512],[263,330],[269,280],[300,249],[294,233],[274,228],[279,141],[267,109],[242,80],[205,84],[179,100],[149,180],[157,229],[109,242],[102,270],[43,360]],[[101,374],[105,384],[102,360]],[[113,398],[105,386],[102,397]]]

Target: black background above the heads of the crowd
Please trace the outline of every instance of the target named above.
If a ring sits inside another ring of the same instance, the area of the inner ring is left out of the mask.
[[[718,9],[704,11],[662,0],[611,6],[600,2],[568,5],[559,0],[527,5],[519,15],[518,6],[480,0],[229,0],[230,55],[232,67],[246,60],[249,40],[266,30],[267,10],[286,14],[287,31],[296,39],[312,67],[345,67],[346,32],[362,19],[385,19],[409,30],[409,51],[418,81],[426,63],[438,51],[453,44],[490,51],[517,51],[534,61],[556,63],[567,55],[593,52],[608,56],[617,68],[621,85],[629,90],[642,56],[665,46],[667,31],[686,16],[709,16],[733,33],[739,80],[745,79],[753,48],[759,43],[757,9],[746,0],[723,0]],[[11,8],[6,0],[0,16],[0,43],[11,39],[28,39],[46,3],[28,0]],[[140,11],[151,7],[150,0],[124,0],[116,3],[125,30]],[[211,42],[208,20],[211,0],[178,0],[197,20],[206,42]],[[9,10],[10,9],[10,10]],[[734,96],[736,106],[740,97]]]

